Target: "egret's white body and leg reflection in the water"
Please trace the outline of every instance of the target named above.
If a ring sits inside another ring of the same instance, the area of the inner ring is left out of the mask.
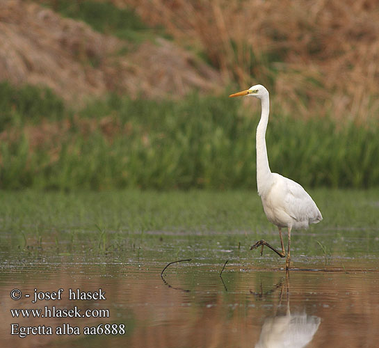
[[[282,304],[284,286],[287,286],[286,313],[285,315],[278,315],[277,311]],[[272,290],[266,293],[250,292],[258,298],[262,298],[275,292],[279,287],[281,288],[280,299],[275,309],[274,317],[265,319],[259,341],[255,345],[255,348],[306,347],[318,330],[321,319],[313,315],[307,315],[305,311],[303,313],[291,313],[289,308],[289,274],[286,276],[285,283],[281,280]]]

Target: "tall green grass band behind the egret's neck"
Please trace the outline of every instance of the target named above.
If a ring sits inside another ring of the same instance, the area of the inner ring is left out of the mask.
[[[257,100],[243,109],[227,92],[179,101],[111,95],[74,113],[48,90],[0,88],[0,189],[256,189]],[[377,123],[296,120],[275,100],[271,110],[273,172],[305,188],[378,187]],[[70,127],[58,123],[61,132],[45,140],[28,131],[63,119]]]

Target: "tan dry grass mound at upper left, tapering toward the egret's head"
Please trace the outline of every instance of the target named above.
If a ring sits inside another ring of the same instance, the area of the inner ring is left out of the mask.
[[[182,96],[220,82],[216,70],[172,42],[134,47],[29,1],[1,1],[0,47],[1,80],[49,86],[72,102],[109,90]]]

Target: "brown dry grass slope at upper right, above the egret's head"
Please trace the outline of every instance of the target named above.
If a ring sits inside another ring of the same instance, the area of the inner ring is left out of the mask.
[[[376,0],[113,2],[206,52],[227,79],[268,85],[284,111],[363,120],[378,113]]]

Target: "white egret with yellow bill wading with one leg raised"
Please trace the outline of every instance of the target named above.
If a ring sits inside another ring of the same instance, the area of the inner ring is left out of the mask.
[[[291,260],[291,230],[292,228],[308,228],[310,223],[318,223],[323,219],[320,210],[311,196],[303,187],[287,177],[277,173],[271,173],[268,165],[266,149],[266,129],[268,114],[270,112],[270,100],[268,90],[262,85],[255,85],[247,90],[229,95],[229,97],[257,97],[261,100],[261,120],[257,127],[257,187],[261,196],[264,212],[268,221],[279,228],[280,244],[282,251],[278,251],[261,239],[250,249],[261,246],[261,254],[264,246],[268,246],[281,258],[286,256],[282,239],[282,228],[288,228],[288,250],[286,259],[286,269],[289,269]]]

